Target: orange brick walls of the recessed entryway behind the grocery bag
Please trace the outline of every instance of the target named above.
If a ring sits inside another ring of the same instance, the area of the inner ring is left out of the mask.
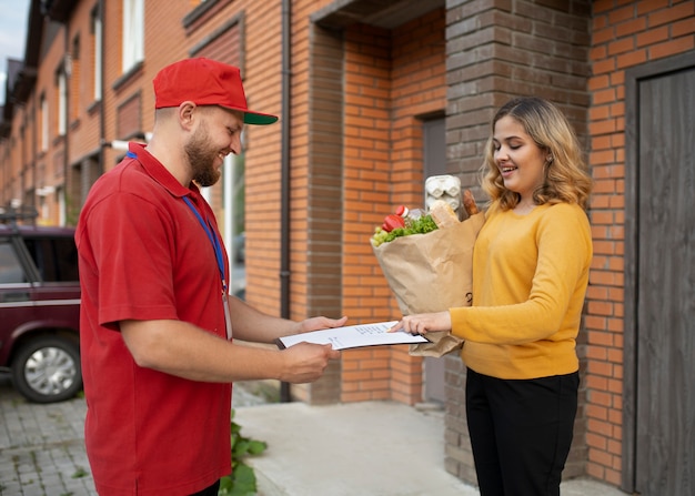
[[[353,320],[400,313],[369,237],[396,205],[423,206],[422,122],[445,108],[444,11],[393,31],[345,32],[343,308]],[[422,401],[422,361],[405,346],[343,354],[342,401]]]

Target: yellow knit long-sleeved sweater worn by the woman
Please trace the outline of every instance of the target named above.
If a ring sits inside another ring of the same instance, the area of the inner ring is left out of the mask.
[[[450,308],[461,357],[481,374],[536,378],[578,370],[575,345],[592,260],[578,205],[527,215],[493,203],[473,252],[473,306]]]

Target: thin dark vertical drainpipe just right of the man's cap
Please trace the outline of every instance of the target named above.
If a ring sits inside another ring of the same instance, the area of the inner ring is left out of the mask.
[[[280,315],[290,318],[290,83],[291,0],[282,0],[282,120],[280,206]],[[280,383],[280,401],[292,401],[290,384]]]

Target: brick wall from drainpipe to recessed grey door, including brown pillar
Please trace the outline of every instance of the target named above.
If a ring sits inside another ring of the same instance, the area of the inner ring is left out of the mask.
[[[397,318],[369,237],[396,204],[422,202],[420,118],[445,107],[444,12],[395,31],[302,29],[314,11],[293,6],[292,308]],[[405,347],[349,351],[339,370],[292,391],[311,403],[413,404],[422,365]]]

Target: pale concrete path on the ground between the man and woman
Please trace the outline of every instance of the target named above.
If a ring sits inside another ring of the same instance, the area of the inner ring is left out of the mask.
[[[444,416],[391,402],[236,409],[241,434],[268,443],[246,458],[261,496],[476,496],[444,469]],[[562,496],[625,496],[574,479]]]

